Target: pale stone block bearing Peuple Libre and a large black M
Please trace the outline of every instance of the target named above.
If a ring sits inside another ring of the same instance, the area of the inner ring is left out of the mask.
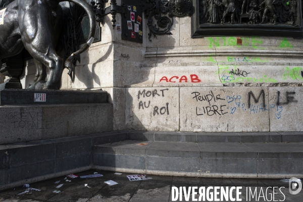
[[[180,87],[180,131],[269,131],[269,110],[265,87]]]

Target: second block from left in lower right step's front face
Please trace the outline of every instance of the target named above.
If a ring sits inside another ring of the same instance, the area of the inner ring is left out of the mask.
[[[146,157],[146,170],[199,172],[200,158]]]

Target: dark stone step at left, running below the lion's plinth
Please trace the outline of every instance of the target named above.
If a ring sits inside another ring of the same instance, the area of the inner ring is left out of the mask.
[[[115,131],[0,145],[0,190],[89,170],[93,144],[126,137]]]

